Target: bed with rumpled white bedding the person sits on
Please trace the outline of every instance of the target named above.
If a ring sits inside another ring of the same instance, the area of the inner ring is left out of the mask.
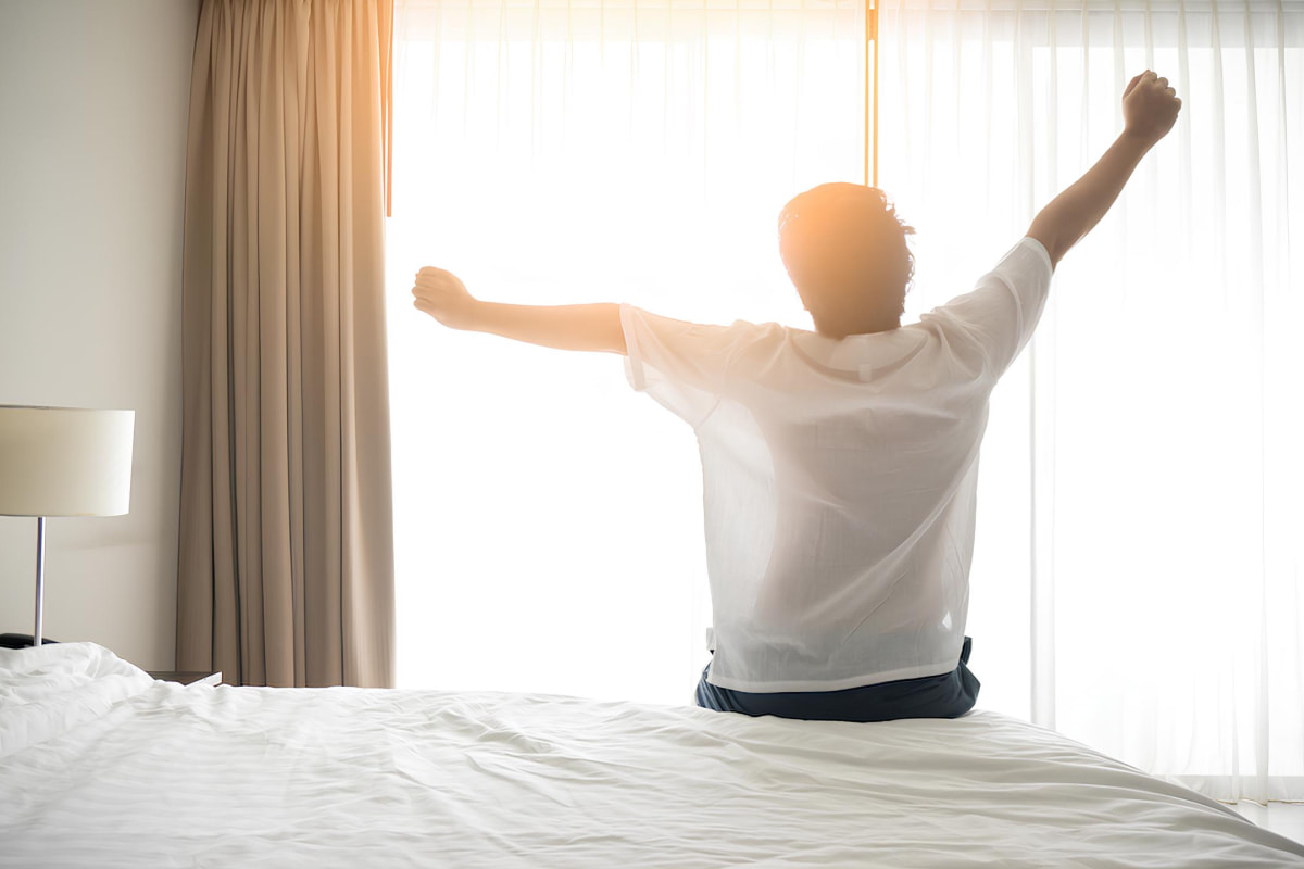
[[[990,711],[793,722],[572,697],[155,681],[0,651],[4,866],[1304,866]]]

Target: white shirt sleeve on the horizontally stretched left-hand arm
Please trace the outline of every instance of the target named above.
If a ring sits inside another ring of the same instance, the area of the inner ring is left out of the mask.
[[[760,327],[745,321],[703,326],[621,305],[625,377],[639,392],[696,429],[726,395],[730,365]]]

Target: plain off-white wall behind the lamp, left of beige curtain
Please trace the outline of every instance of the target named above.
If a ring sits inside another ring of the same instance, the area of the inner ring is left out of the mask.
[[[198,0],[0,0],[0,404],[136,410],[132,512],[46,524],[46,636],[173,663],[181,210]],[[0,631],[34,519],[0,516]]]

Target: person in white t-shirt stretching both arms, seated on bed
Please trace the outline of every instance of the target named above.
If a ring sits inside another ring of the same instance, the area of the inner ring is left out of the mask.
[[[452,328],[621,353],[631,386],[694,427],[715,614],[700,706],[953,718],[978,693],[964,631],[988,396],[1031,337],[1055,266],[1180,107],[1166,78],[1133,78],[1124,130],[1095,165],[975,289],[905,327],[913,231],[882,192],[850,184],[808,190],[780,215],[814,332],[481,302],[438,268],[412,293]]]

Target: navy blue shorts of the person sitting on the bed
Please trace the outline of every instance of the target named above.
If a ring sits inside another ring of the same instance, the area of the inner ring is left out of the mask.
[[[960,664],[940,676],[901,679],[842,691],[755,693],[698,681],[698,705],[719,713],[777,715],[805,720],[885,722],[897,718],[960,718],[978,700],[978,679],[969,671],[973,640],[965,637]]]

